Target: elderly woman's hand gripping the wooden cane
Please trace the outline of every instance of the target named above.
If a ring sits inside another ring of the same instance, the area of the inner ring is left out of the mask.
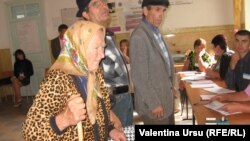
[[[56,124],[62,131],[86,118],[85,103],[80,95],[72,95],[62,113],[56,116]]]

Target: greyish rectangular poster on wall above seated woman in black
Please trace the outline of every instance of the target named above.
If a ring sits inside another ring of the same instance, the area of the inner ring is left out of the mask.
[[[37,53],[41,51],[39,32],[35,20],[17,23],[16,33],[19,48],[24,50],[26,53]]]

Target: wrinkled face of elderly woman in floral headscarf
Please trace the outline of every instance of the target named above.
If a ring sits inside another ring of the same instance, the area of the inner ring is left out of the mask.
[[[105,33],[98,31],[90,40],[88,47],[86,48],[86,60],[88,64],[88,70],[94,71],[99,68],[99,63],[104,58],[105,48]]]

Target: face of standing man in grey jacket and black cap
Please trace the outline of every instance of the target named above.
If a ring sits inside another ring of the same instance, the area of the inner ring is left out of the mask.
[[[145,18],[155,27],[159,27],[161,25],[165,11],[166,7],[161,5],[150,6],[149,8],[146,6],[143,7]]]

